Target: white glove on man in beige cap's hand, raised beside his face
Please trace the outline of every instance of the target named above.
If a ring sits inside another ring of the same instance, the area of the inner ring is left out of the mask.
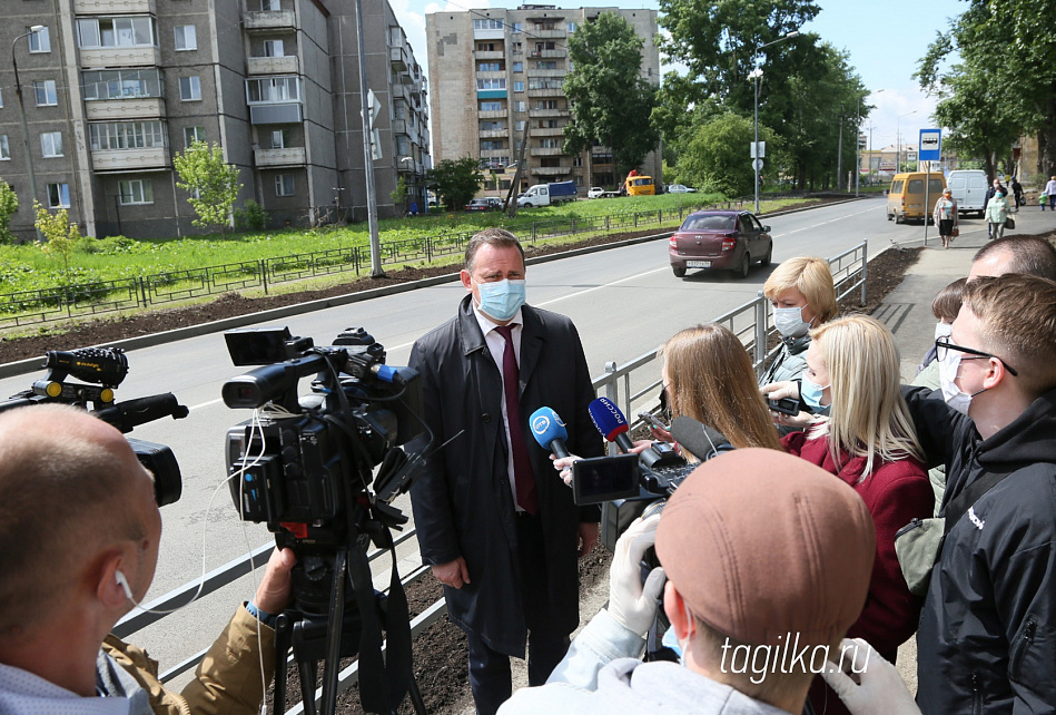
[[[663,569],[659,566],[642,585],[642,557],[655,543],[659,523],[659,515],[634,520],[616,541],[609,569],[609,615],[640,636],[653,625],[663,588]]]

